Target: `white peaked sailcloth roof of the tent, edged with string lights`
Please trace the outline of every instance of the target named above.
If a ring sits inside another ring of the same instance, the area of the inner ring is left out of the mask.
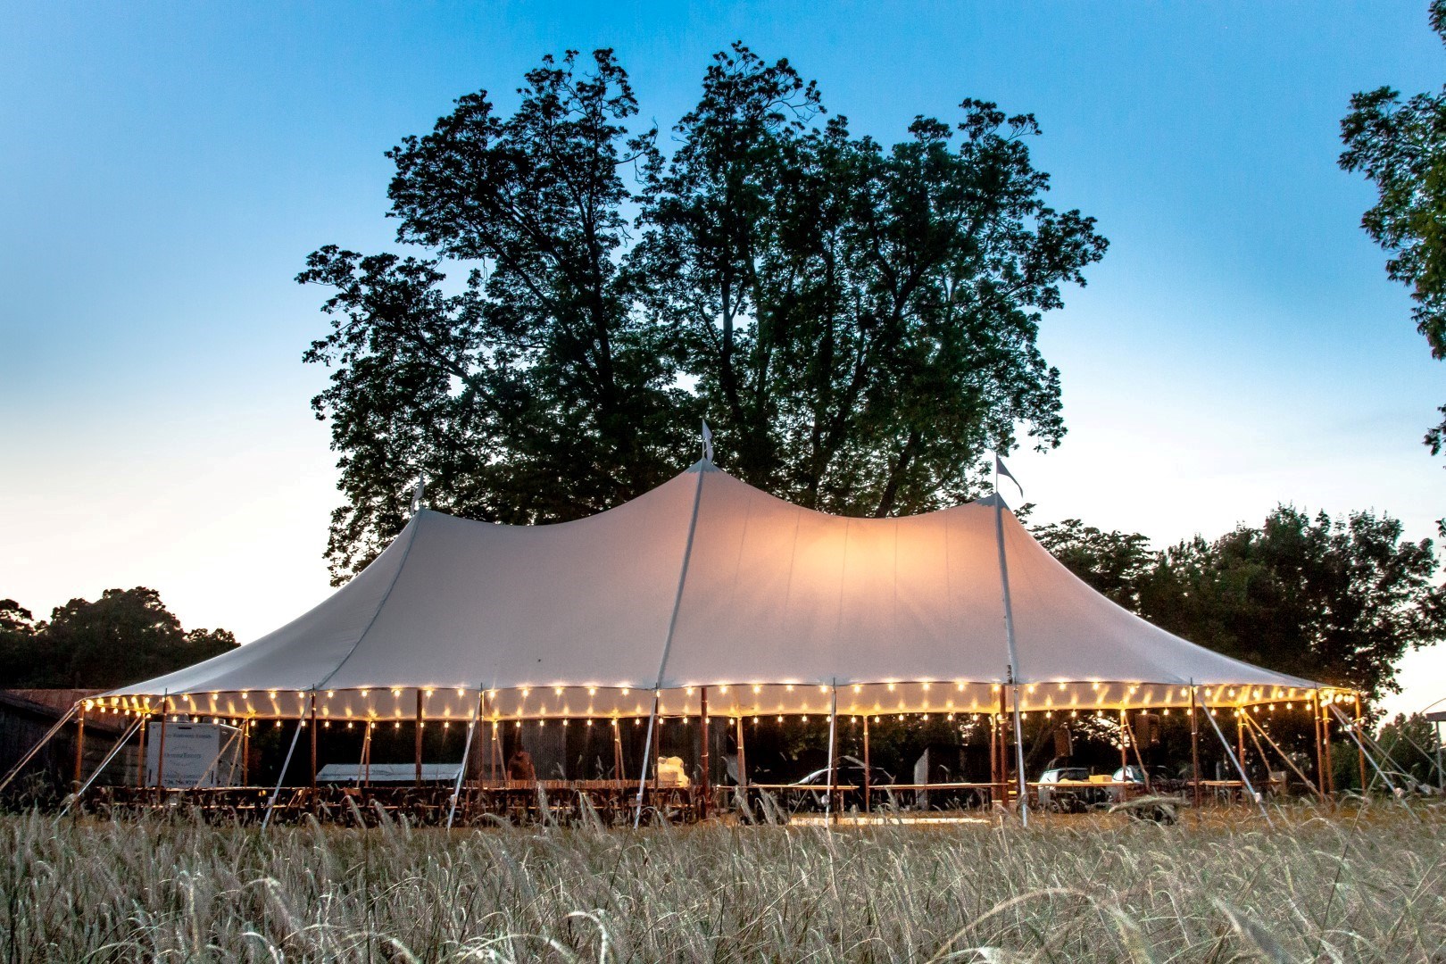
[[[597,516],[421,510],[262,639],[103,707],[228,718],[1005,713],[1304,701],[1317,684],[1173,636],[1092,590],[998,496],[901,519],[790,504],[700,461]],[[999,526],[996,529],[996,525]],[[1012,708],[1012,700],[1011,700]]]

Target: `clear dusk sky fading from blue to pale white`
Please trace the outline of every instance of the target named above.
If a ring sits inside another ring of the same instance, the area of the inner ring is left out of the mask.
[[[964,97],[1038,117],[1051,202],[1111,250],[1043,324],[1069,435],[1011,460],[1037,520],[1167,545],[1288,502],[1434,536],[1446,370],[1336,168],[1353,91],[1446,78],[1424,1],[9,4],[0,597],[150,585],[243,640],[324,598],[307,253],[389,247],[382,152],[544,52],[616,48],[667,129],[735,39],[879,139]],[[1403,682],[1446,697],[1446,647]]]

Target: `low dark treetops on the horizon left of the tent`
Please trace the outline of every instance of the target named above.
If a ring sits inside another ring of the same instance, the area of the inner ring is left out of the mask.
[[[0,600],[0,678],[7,687],[111,688],[236,647],[224,629],[184,630],[155,590],[106,590],[74,598],[49,621]]]

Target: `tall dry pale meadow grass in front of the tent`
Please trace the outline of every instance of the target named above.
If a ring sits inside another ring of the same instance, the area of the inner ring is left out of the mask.
[[[1446,961],[1446,815],[951,827],[0,818],[22,961]]]

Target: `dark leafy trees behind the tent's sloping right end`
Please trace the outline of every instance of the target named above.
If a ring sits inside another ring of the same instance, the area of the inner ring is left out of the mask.
[[[1432,542],[1404,541],[1387,515],[1278,506],[1259,528],[1163,552],[1073,519],[1035,533],[1076,575],[1163,629],[1374,698],[1400,691],[1395,663],[1408,649],[1446,636]]]

